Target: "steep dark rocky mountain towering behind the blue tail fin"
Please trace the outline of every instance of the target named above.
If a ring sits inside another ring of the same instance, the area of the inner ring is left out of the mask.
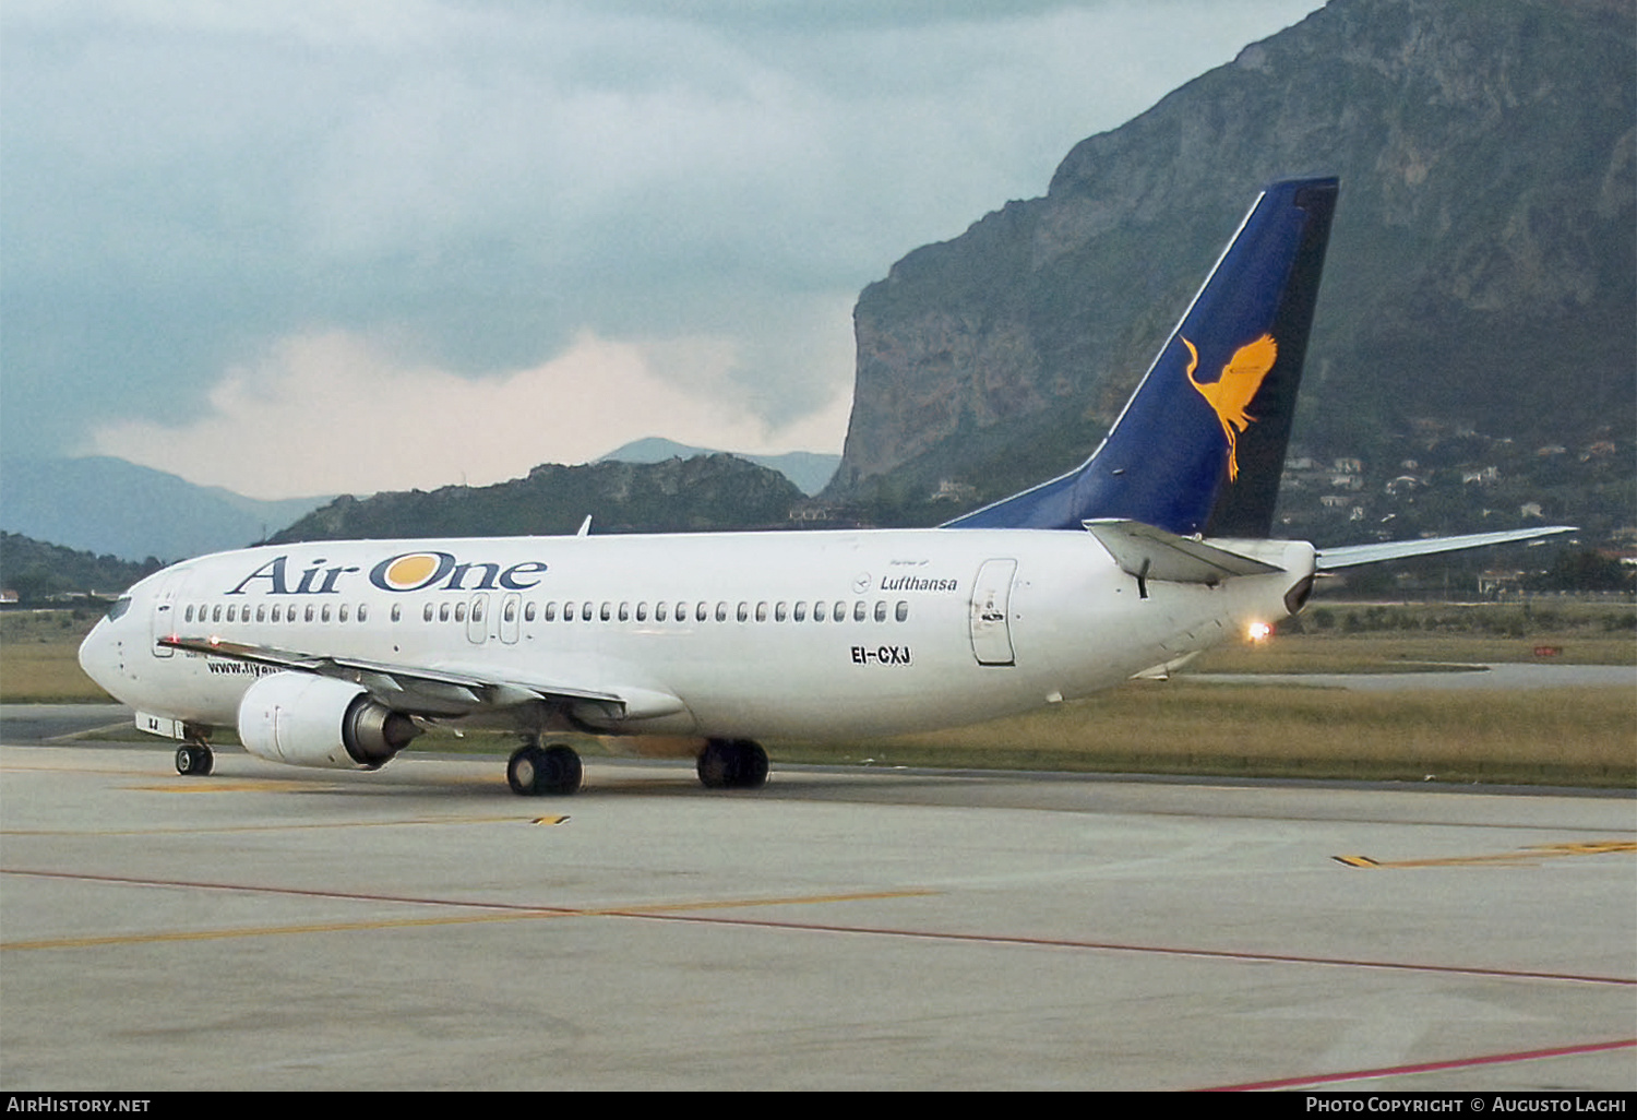
[[[1333,0],[869,285],[833,495],[1090,450],[1278,177],[1342,195],[1295,442],[1637,414],[1637,36],[1594,0]],[[913,476],[913,478],[907,478]],[[871,480],[876,480],[874,483]],[[1008,480],[1010,481],[1010,480]]]

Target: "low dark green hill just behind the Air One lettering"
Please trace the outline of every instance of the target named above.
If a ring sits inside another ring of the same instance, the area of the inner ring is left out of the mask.
[[[800,490],[733,455],[660,463],[545,463],[494,486],[444,486],[337,498],[272,544],[336,539],[563,535],[784,527]]]

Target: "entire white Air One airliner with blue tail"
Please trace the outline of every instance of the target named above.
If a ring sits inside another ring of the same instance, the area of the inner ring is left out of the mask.
[[[522,735],[519,794],[568,794],[578,730],[678,740],[755,788],[764,737],[951,727],[1164,671],[1301,609],[1316,573],[1522,540],[1318,550],[1274,499],[1336,205],[1269,185],[1097,452],[938,529],[277,545],[188,560],[113,604],[80,665],[183,740],[375,770],[440,720]]]

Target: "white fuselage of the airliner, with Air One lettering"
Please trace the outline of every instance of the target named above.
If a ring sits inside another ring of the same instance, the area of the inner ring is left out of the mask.
[[[891,734],[1085,696],[1282,617],[1313,549],[1262,549],[1280,571],[1139,589],[1067,531],[273,545],[142,580],[82,663],[121,701],[190,724],[231,725],[273,670],[160,637],[634,698],[598,727],[614,734]]]

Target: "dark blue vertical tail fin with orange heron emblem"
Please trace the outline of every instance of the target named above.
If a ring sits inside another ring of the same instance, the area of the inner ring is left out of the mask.
[[[1264,188],[1097,452],[946,527],[1116,517],[1182,537],[1265,537],[1337,190],[1336,178]]]

